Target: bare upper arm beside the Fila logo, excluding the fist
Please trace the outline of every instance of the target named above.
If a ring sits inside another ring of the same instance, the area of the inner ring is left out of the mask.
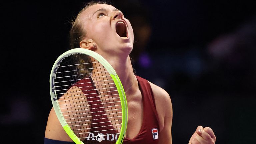
[[[150,83],[150,82],[149,82]],[[172,144],[172,103],[169,94],[162,88],[150,83],[159,119],[159,144]]]

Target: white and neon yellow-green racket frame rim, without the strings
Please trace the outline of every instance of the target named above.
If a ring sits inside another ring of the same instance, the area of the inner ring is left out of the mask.
[[[58,57],[58,59],[55,61],[54,65],[52,67],[51,74],[50,74],[50,94],[51,94],[51,100],[52,100],[53,108],[55,110],[55,113],[56,113],[62,127],[64,128],[66,133],[69,135],[69,137],[76,144],[84,144],[74,134],[74,132],[71,130],[71,128],[67,124],[66,120],[64,119],[64,117],[62,115],[62,112],[60,110],[60,106],[59,106],[57,96],[56,96],[56,91],[55,91],[55,76],[56,76],[57,68],[60,65],[60,62],[65,57],[67,57],[69,55],[72,55],[72,54],[86,54],[86,55],[89,55],[89,56],[95,58],[97,61],[99,61],[106,68],[106,70],[109,72],[112,79],[114,80],[114,83],[115,83],[115,85],[117,87],[117,90],[118,90],[118,93],[119,93],[119,97],[120,97],[120,100],[121,100],[121,106],[122,106],[122,126],[121,126],[120,135],[118,137],[118,140],[116,141],[116,144],[122,144],[123,139],[124,139],[124,134],[125,134],[126,128],[127,128],[127,122],[128,122],[128,107],[127,107],[127,101],[126,101],[124,88],[123,88],[122,83],[121,83],[118,75],[116,74],[114,68],[107,62],[107,60],[104,59],[98,53],[96,53],[94,51],[91,51],[91,50],[88,50],[88,49],[75,48],[75,49],[68,50],[68,51],[66,51],[65,53],[63,53],[62,55],[60,55]]]

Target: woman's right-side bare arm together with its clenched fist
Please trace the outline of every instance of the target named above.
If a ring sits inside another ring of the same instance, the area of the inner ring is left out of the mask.
[[[150,83],[150,82],[149,82]],[[159,118],[159,144],[172,144],[172,103],[169,94],[162,88],[150,83]],[[195,133],[189,140],[189,144],[214,144],[216,136],[211,128],[198,126]]]

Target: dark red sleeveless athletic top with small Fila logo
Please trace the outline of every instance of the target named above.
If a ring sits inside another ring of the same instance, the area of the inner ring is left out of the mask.
[[[139,83],[139,89],[141,91],[142,95],[142,101],[143,101],[143,122],[141,129],[139,133],[132,139],[124,138],[123,144],[157,144],[158,143],[158,135],[159,135],[159,126],[158,126],[158,116],[156,112],[156,106],[155,106],[155,100],[153,96],[153,92],[151,89],[150,84],[147,80],[136,76],[138,83]],[[93,112],[93,118],[95,119],[91,121],[91,123],[100,123],[100,126],[108,126],[108,129],[113,129],[113,126],[109,122],[105,122],[107,120],[107,117],[104,116],[105,112],[104,109],[100,108],[102,107],[102,104],[99,100],[97,91],[94,90],[95,87],[93,86],[92,80],[90,78],[80,80],[75,84],[78,86],[83,93],[90,94],[90,97],[88,99],[89,105],[92,105],[91,112]],[[88,87],[90,85],[90,87]],[[94,93],[94,94],[92,94]],[[96,100],[96,102],[95,102]],[[102,109],[102,110],[101,110]],[[95,110],[95,111],[94,111]],[[101,111],[101,112],[98,112]],[[104,117],[99,117],[98,115],[103,115]],[[91,129],[91,133],[89,133],[88,137],[85,140],[85,143],[99,143],[99,144],[114,144],[118,138],[117,132],[115,130],[104,132],[97,132],[101,131],[101,128],[97,128],[97,124],[92,125],[91,127],[95,127]],[[102,142],[98,142],[96,140],[96,136],[102,133],[104,135],[104,140]],[[50,143],[50,140],[45,140],[48,143],[45,144],[54,144],[55,140]],[[59,142],[59,141],[58,141]]]

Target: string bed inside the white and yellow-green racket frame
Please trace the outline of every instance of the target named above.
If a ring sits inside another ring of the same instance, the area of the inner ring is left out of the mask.
[[[67,57],[58,67],[55,87],[63,117],[81,140],[89,133],[119,134],[122,108],[115,83],[97,60],[87,60],[73,64]]]

